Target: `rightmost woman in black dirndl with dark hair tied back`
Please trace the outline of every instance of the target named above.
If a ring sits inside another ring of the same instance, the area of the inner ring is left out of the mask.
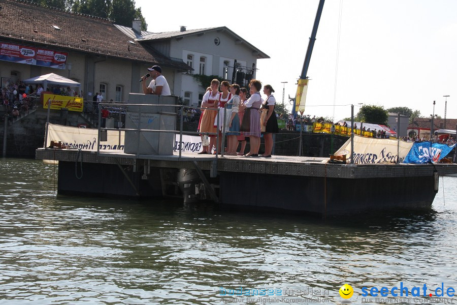
[[[271,158],[271,150],[273,149],[272,134],[278,133],[278,120],[276,118],[275,105],[276,100],[272,95],[275,92],[271,85],[264,86],[264,94],[267,99],[262,103],[262,115],[260,115],[260,125],[262,126],[262,134],[265,140],[265,153],[262,157]]]

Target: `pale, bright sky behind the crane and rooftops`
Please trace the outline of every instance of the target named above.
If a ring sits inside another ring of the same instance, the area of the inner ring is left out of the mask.
[[[336,74],[338,22],[342,18]],[[295,96],[318,0],[157,2],[136,0],[148,31],[227,26],[270,55],[257,61],[257,78],[276,100]],[[210,17],[215,16],[215,17]],[[457,118],[457,1],[327,0],[308,70],[305,114],[335,120],[359,103],[406,106],[424,116]],[[337,77],[336,77],[337,76]],[[335,82],[336,79],[336,82]],[[335,86],[336,83],[336,86]],[[336,90],[335,90],[336,87]],[[325,106],[331,105],[331,106]]]

